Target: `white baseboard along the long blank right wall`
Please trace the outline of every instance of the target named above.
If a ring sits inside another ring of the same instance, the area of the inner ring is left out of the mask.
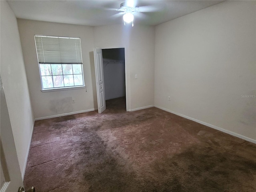
[[[202,124],[202,125],[205,125],[205,126],[208,126],[208,127],[210,127],[210,128],[214,128],[214,129],[219,130],[219,131],[221,131],[221,132],[230,134],[230,135],[232,135],[232,136],[235,136],[235,137],[238,137],[238,138],[241,138],[241,139],[243,139],[243,140],[246,140],[246,141],[249,141],[249,142],[252,142],[252,143],[255,143],[255,144],[256,144],[256,140],[254,140],[254,139],[252,139],[252,138],[248,138],[248,137],[243,136],[243,135],[240,135],[240,134],[238,134],[238,133],[235,133],[235,132],[232,132],[232,131],[229,131],[229,130],[226,130],[226,129],[223,129],[223,128],[220,128],[220,127],[217,127],[217,126],[212,125],[212,124],[208,124],[208,123],[206,123],[206,122],[203,122],[203,121],[200,121],[200,120],[197,120],[197,119],[188,117],[188,116],[186,116],[186,115],[182,115],[182,114],[180,114],[180,113],[177,113],[177,112],[168,110],[168,109],[163,108],[163,107],[160,107],[160,106],[155,106],[155,107],[156,107],[156,108],[159,108],[159,109],[162,109],[162,110],[164,110],[164,111],[167,111],[167,112],[176,114],[176,115],[178,115],[178,116],[184,117],[184,118],[186,118],[186,119],[192,120],[192,121],[194,121],[194,122],[198,122],[198,123],[200,123],[200,124]]]

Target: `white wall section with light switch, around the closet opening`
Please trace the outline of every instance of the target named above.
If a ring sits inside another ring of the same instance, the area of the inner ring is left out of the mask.
[[[154,26],[94,27],[94,45],[125,48],[128,110],[154,105]],[[138,79],[135,79],[138,74]]]

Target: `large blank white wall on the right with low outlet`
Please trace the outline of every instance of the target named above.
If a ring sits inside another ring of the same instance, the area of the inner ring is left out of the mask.
[[[256,98],[241,97],[255,89],[255,1],[226,1],[156,26],[156,106],[255,141]]]

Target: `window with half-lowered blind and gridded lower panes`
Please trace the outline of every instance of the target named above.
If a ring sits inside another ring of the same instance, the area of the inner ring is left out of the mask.
[[[35,35],[42,90],[84,86],[80,38]]]

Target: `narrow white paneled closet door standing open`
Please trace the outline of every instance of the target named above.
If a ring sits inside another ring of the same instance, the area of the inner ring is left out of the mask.
[[[94,49],[94,66],[95,66],[95,76],[96,76],[98,112],[102,113],[106,109],[106,100],[105,100],[102,50],[98,48]]]

